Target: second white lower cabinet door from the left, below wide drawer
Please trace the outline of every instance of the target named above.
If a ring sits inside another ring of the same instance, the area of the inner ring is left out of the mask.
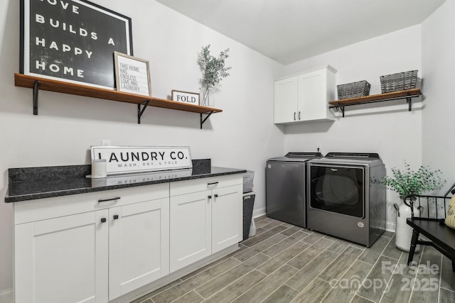
[[[169,200],[109,209],[109,299],[169,273]]]

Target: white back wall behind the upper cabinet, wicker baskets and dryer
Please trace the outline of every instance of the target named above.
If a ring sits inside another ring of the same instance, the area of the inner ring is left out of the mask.
[[[349,45],[287,65],[284,72],[293,74],[322,65],[338,72],[337,84],[367,80],[370,94],[380,94],[380,75],[419,70],[422,77],[420,26],[412,26],[377,38]],[[424,103],[424,102],[423,102]],[[346,107],[345,118],[336,113],[336,121],[286,126],[286,150],[321,152],[379,153],[387,173],[392,167],[412,166],[422,162],[422,102],[413,102],[407,111],[405,100],[387,101],[364,106]],[[394,203],[400,203],[395,192],[387,191],[387,228],[395,222]]]

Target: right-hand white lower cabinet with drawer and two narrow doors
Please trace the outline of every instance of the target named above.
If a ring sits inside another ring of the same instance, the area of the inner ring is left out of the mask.
[[[170,271],[242,241],[242,175],[171,183]]]

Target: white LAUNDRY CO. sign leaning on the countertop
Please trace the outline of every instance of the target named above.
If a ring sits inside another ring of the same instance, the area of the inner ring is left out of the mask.
[[[107,175],[193,167],[189,147],[92,146],[95,159],[106,159]]]

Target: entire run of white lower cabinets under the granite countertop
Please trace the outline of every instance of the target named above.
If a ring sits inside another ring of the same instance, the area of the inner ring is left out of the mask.
[[[14,203],[14,302],[119,302],[237,244],[242,180],[237,174]]]

